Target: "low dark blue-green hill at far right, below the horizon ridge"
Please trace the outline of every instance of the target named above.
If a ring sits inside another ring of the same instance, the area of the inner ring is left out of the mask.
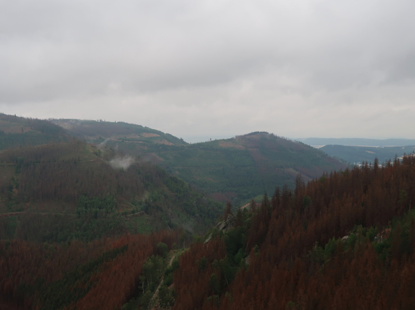
[[[342,145],[326,145],[320,148],[330,156],[335,156],[350,162],[351,164],[358,162],[374,162],[378,158],[379,162],[387,162],[394,159],[397,155],[402,157],[405,153],[409,154],[415,151],[415,146],[387,146],[387,147],[368,147],[368,146],[342,146]]]

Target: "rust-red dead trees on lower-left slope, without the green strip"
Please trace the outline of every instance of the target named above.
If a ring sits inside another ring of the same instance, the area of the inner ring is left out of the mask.
[[[157,253],[158,242],[178,241],[177,232],[159,231],[151,235],[124,235],[118,239],[104,238],[89,244],[72,242],[70,246],[38,245],[22,240],[0,242],[0,294],[6,300],[15,300],[26,309],[42,307],[39,292],[21,296],[19,286],[34,286],[38,279],[44,284],[62,279],[64,273],[87,264],[102,253],[127,246],[113,260],[104,262],[98,273],[93,273],[91,289],[86,296],[71,304],[68,309],[119,309],[138,285],[142,264]],[[43,287],[44,288],[44,287]],[[37,287],[36,289],[42,289]],[[33,302],[35,302],[33,304]]]

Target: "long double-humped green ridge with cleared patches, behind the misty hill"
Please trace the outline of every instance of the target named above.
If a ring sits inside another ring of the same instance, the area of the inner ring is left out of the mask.
[[[308,181],[324,171],[346,168],[311,146],[268,133],[186,144],[172,135],[132,124],[71,119],[53,122],[102,148],[140,155],[215,200],[232,200],[234,204],[273,191],[275,185],[294,186],[298,173]]]

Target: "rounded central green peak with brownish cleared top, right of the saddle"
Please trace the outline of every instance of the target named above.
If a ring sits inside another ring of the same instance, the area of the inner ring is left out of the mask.
[[[241,204],[275,186],[295,186],[301,173],[308,181],[324,171],[346,168],[311,146],[269,133],[250,133],[211,142],[160,149],[160,166],[195,184],[216,200]]]

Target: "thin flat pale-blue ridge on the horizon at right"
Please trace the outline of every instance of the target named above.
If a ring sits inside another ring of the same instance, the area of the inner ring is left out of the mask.
[[[415,145],[415,139],[364,139],[364,138],[300,138],[295,139],[311,146],[329,144],[345,146],[409,146]]]

